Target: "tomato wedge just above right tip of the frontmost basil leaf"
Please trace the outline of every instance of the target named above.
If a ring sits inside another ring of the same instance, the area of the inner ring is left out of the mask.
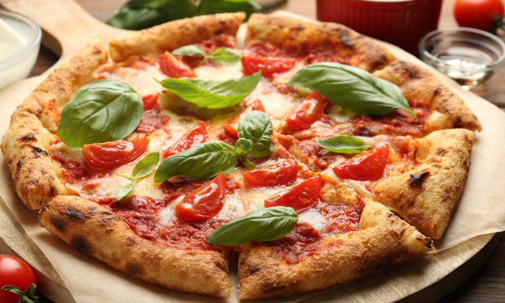
[[[321,176],[292,185],[265,200],[265,207],[286,206],[300,212],[316,205],[321,197]]]

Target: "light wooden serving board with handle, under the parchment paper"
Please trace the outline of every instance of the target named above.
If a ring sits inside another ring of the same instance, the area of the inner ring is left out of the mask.
[[[72,0],[0,0],[0,5],[27,15],[40,24],[44,33],[42,44],[61,56],[55,66],[67,61],[92,38],[98,37],[107,42],[127,32],[97,21]],[[0,90],[2,112],[7,112],[10,116],[15,107],[51,70],[41,76],[14,83]],[[8,121],[0,122],[2,123],[0,129],[4,130]],[[10,179],[6,177],[10,176],[10,172],[5,163],[0,166],[0,175],[5,177],[4,180]],[[4,195],[12,196],[13,193],[11,190],[11,192],[0,192],[0,194],[4,197]],[[44,295],[55,302],[73,302],[74,295],[70,292],[73,287],[65,284],[63,275],[58,273],[23,228],[35,217],[36,212],[29,211],[22,205],[9,207],[0,198],[0,252],[20,256],[30,263],[36,271],[39,290]],[[494,250],[499,236],[495,234],[477,236],[415,262],[332,288],[329,291],[313,293],[309,298],[305,297],[305,300],[310,302],[397,300],[415,302],[422,298],[423,301],[434,301],[456,288],[479,269]],[[167,298],[167,300],[170,299],[170,297]],[[99,300],[99,298],[94,298],[94,300]],[[197,296],[196,299],[191,297],[190,300],[213,299]],[[288,301],[296,300],[299,300],[299,297],[288,298]]]

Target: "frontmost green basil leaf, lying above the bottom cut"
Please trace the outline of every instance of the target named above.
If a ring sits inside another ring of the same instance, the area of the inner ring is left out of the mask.
[[[296,222],[298,215],[290,207],[263,208],[221,225],[206,242],[231,246],[251,241],[273,241],[290,233]]]

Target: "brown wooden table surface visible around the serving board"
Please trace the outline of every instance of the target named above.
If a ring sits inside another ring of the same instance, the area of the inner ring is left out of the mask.
[[[86,11],[99,20],[108,20],[112,12],[123,5],[125,0],[76,0]],[[452,15],[456,0],[444,0],[439,28],[457,26]],[[316,19],[316,1],[288,0],[274,9],[287,10]],[[44,39],[44,38],[43,38]],[[43,43],[43,41],[42,41]],[[47,48],[42,47],[30,77],[40,75],[58,60]],[[505,68],[494,74],[486,82],[472,91],[505,111]],[[448,286],[449,287],[449,286]],[[442,298],[440,302],[504,302],[505,301],[505,237],[502,237],[495,251],[472,277]]]

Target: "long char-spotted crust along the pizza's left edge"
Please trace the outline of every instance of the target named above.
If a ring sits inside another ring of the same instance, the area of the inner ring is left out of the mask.
[[[58,117],[52,106],[62,108],[106,61],[107,54],[100,42],[91,42],[40,83],[12,115],[2,138],[2,153],[14,188],[28,208],[38,210],[56,195],[71,194],[57,177],[47,153],[51,132],[57,129]]]

